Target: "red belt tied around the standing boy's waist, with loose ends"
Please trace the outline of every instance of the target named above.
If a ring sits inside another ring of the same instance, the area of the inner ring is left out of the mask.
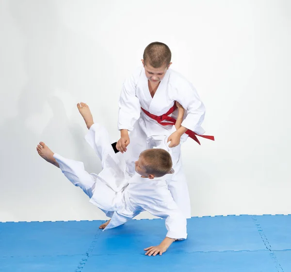
[[[156,120],[162,126],[175,125],[176,124],[177,120],[175,118],[173,118],[173,117],[168,116],[171,113],[173,113],[176,109],[177,109],[177,105],[176,105],[176,102],[175,102],[174,106],[168,112],[162,114],[161,116],[157,116],[157,115],[151,114],[150,112],[147,112],[145,109],[142,108],[143,112],[145,112],[148,117]],[[168,122],[162,122],[164,120],[167,120]],[[214,141],[214,136],[199,135],[199,134],[195,133],[194,131],[192,131],[190,129],[188,129],[185,133],[187,135],[189,135],[189,137],[192,138],[198,144],[200,144],[200,142],[199,142],[199,140],[198,140],[198,138],[196,136],[199,136],[199,137],[206,138],[206,139]]]

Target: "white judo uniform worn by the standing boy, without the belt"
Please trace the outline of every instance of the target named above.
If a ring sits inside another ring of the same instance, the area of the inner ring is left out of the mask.
[[[178,101],[185,109],[182,126],[195,133],[204,134],[201,124],[204,120],[205,107],[193,85],[180,74],[168,69],[160,85],[152,97],[148,89],[148,80],[144,67],[138,68],[125,80],[119,99],[118,129],[130,131],[130,144],[125,156],[135,161],[139,154],[148,148],[164,141],[166,135],[176,131],[175,126],[162,126],[148,117],[141,107],[151,114],[161,116]],[[178,110],[170,116],[177,118]],[[191,218],[191,206],[186,177],[182,168],[181,144],[188,138],[183,134],[180,144],[172,149],[171,155],[175,174],[167,178],[168,188],[180,210],[186,218]],[[166,148],[167,150],[168,147]]]

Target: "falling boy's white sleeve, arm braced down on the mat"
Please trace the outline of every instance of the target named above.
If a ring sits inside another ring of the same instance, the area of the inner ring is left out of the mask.
[[[174,199],[144,208],[152,215],[165,219],[168,230],[166,237],[177,240],[187,239],[187,220],[179,210]]]

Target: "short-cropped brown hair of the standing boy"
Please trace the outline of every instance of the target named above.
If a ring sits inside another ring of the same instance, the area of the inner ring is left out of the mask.
[[[144,62],[154,68],[160,68],[163,65],[168,66],[171,62],[172,53],[170,48],[160,42],[149,44],[144,51]]]

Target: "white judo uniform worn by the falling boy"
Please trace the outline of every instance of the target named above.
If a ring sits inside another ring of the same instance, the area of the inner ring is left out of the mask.
[[[105,230],[124,224],[146,210],[165,219],[166,237],[187,238],[186,218],[168,190],[165,177],[149,179],[130,172],[123,154],[114,153],[107,130],[98,124],[91,126],[85,139],[101,160],[102,171],[98,175],[86,172],[80,161],[56,153],[54,158],[65,176],[90,197],[90,202],[111,217]]]

